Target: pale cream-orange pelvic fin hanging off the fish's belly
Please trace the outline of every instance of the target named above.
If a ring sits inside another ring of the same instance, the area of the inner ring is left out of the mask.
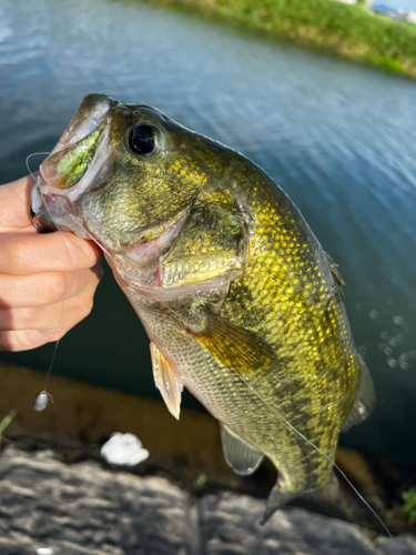
[[[154,384],[160,390],[169,412],[179,420],[183,391],[181,379],[153,341],[150,342],[150,353],[152,355]]]

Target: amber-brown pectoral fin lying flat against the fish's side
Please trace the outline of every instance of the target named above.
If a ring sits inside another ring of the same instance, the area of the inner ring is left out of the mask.
[[[203,309],[205,329],[191,332],[212,356],[230,370],[253,374],[276,362],[274,351],[253,332]]]

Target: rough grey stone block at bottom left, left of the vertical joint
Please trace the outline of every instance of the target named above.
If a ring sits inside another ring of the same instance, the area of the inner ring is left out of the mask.
[[[64,465],[50,451],[0,457],[0,554],[185,555],[187,494],[163,478]]]

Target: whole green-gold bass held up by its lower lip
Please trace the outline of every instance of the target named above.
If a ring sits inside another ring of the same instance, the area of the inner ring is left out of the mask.
[[[38,231],[94,240],[150,339],[179,418],[187,390],[240,475],[277,470],[262,522],[336,491],[342,431],[375,405],[337,264],[258,165],[156,108],[87,95],[32,189]]]

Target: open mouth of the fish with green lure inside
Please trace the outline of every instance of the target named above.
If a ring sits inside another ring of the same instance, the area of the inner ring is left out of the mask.
[[[70,229],[65,216],[78,216],[77,201],[98,186],[109,171],[112,163],[109,114],[118,104],[110,97],[89,94],[57,147],[40,165],[30,203],[32,223],[38,231],[57,231],[57,225]],[[85,117],[82,112],[88,109]]]

